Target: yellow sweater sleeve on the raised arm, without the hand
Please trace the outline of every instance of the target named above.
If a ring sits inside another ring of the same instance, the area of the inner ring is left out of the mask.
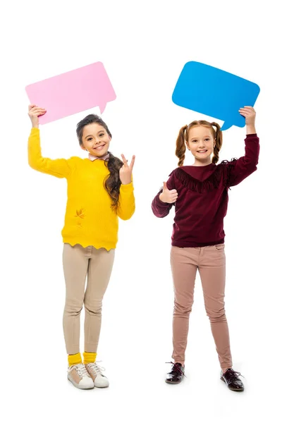
[[[42,157],[39,128],[32,128],[28,138],[28,164],[35,171],[47,173],[57,178],[67,178],[71,167],[67,159],[48,159]]]

